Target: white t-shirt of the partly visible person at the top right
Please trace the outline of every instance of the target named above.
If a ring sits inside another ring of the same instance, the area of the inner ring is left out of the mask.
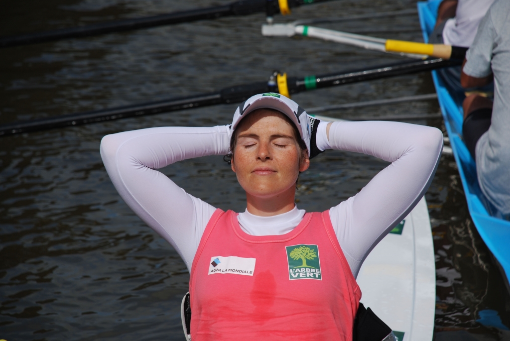
[[[453,46],[471,46],[481,18],[494,1],[458,0],[455,17],[448,19],[443,29],[444,43]]]

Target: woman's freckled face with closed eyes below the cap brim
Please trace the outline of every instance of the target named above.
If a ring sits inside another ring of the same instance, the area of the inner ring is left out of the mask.
[[[270,198],[294,189],[299,172],[308,169],[310,160],[293,130],[283,114],[270,110],[257,110],[241,121],[232,170],[248,194]]]

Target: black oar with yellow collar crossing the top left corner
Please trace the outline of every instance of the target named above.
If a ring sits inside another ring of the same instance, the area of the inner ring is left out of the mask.
[[[99,22],[91,25],[0,37],[0,47],[36,44],[68,38],[96,36],[100,34],[146,29],[225,16],[248,15],[257,12],[290,13],[290,8],[329,0],[239,0],[223,6],[171,12],[149,17]]]

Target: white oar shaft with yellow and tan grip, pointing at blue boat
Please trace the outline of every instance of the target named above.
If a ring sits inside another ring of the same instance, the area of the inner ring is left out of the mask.
[[[262,25],[262,35],[264,36],[292,37],[296,34],[381,52],[398,53],[412,58],[424,58],[426,56],[430,56],[443,59],[464,60],[467,51],[467,47],[382,39],[335,30],[321,29],[308,25],[295,25],[294,23]]]

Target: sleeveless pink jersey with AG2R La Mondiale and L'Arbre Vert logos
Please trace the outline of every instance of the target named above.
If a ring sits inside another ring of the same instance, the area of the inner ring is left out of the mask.
[[[283,235],[245,233],[217,209],[190,278],[191,338],[351,340],[360,287],[328,211],[307,213]]]

